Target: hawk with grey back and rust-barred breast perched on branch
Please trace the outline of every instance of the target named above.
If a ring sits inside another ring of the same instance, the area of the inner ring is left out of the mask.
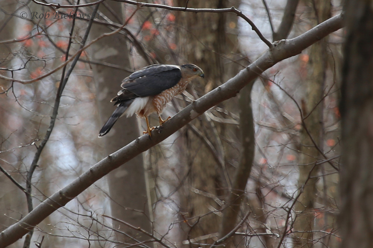
[[[130,117],[137,114],[145,117],[148,126],[147,131],[151,135],[148,116],[157,112],[159,123],[162,125],[166,120],[161,118],[164,107],[171,101],[172,97],[181,94],[188,83],[196,77],[204,77],[203,71],[197,65],[150,65],[139,71],[135,71],[126,77],[120,85],[123,89],[118,92],[111,102],[117,106],[112,116],[101,128],[98,137],[106,135],[117,121],[126,115]]]

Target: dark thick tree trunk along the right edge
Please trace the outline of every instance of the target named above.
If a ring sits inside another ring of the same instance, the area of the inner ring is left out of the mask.
[[[344,6],[347,39],[342,71],[342,246],[373,247],[373,8]]]

